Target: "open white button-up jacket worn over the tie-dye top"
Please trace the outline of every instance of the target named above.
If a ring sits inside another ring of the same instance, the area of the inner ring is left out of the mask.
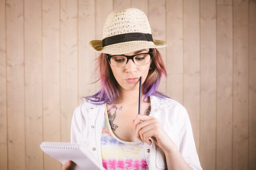
[[[150,96],[149,116],[157,118],[167,134],[175,142],[186,163],[194,170],[202,170],[195,149],[191,123],[186,109],[173,99]],[[74,111],[71,125],[71,142],[86,146],[92,156],[102,165],[101,131],[104,120],[105,104],[95,105],[84,102]],[[146,162],[149,170],[164,170],[164,152],[156,146],[144,143]]]

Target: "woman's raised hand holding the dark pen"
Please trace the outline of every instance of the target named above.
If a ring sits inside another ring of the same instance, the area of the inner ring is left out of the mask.
[[[151,139],[162,148],[164,152],[171,152],[172,147],[176,147],[172,139],[165,132],[159,121],[155,117],[147,115],[137,115],[132,121],[136,137],[151,145]]]

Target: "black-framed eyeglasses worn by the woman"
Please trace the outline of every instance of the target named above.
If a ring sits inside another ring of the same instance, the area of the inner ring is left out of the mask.
[[[153,57],[153,50],[149,49],[149,53],[139,53],[135,55],[109,55],[107,54],[107,60],[114,67],[124,67],[131,59],[135,65],[143,66],[150,62]]]

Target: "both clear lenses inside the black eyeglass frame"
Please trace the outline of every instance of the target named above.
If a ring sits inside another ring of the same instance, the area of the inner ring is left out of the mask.
[[[110,64],[115,67],[123,67],[127,63],[127,57],[122,55],[114,55],[110,58]],[[133,57],[133,62],[137,66],[142,66],[150,62],[149,54],[138,54]]]

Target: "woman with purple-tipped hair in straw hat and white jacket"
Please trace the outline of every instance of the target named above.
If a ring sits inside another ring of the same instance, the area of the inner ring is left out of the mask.
[[[71,141],[88,147],[108,170],[202,170],[186,109],[157,91],[161,76],[167,74],[156,48],[166,45],[153,40],[139,9],[110,13],[103,40],[90,42],[101,52],[101,90],[85,97],[74,111]]]

